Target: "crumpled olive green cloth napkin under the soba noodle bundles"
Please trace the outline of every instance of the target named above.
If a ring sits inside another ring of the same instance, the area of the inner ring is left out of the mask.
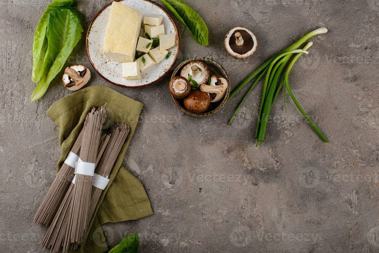
[[[101,225],[106,222],[136,220],[153,214],[143,185],[121,165],[136,129],[143,104],[113,89],[105,86],[89,86],[61,98],[47,110],[47,115],[59,127],[62,156],[58,161],[58,170],[83,127],[88,112],[93,107],[97,108],[105,103],[108,117],[103,127],[108,128],[115,122],[124,122],[131,129],[113,166],[109,184],[97,203],[96,215],[91,219],[91,228],[86,242],[84,246],[74,252],[108,252],[107,241]],[[110,243],[112,242],[108,242],[108,244]]]

